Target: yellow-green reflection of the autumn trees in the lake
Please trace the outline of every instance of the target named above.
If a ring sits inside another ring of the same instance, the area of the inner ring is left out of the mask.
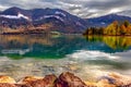
[[[112,50],[110,52],[129,50],[131,47],[131,37],[127,36],[86,36],[86,40],[103,42]]]

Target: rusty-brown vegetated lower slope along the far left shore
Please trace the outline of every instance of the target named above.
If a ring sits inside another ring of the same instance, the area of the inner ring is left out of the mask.
[[[49,34],[51,32],[50,30],[51,27],[52,27],[52,24],[50,23],[46,23],[38,26],[34,26],[33,24],[12,26],[12,27],[0,26],[0,35]]]

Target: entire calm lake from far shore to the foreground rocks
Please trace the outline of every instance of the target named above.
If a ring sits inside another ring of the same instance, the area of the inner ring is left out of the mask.
[[[82,35],[0,35],[0,75],[70,71],[84,80],[108,72],[131,76],[131,37]]]

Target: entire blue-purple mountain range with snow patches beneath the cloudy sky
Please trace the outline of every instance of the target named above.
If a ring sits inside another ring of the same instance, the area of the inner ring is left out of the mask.
[[[21,26],[25,29],[25,27],[34,28],[51,24],[51,27],[47,27],[45,29],[48,29],[49,32],[55,30],[70,34],[83,33],[87,27],[92,26],[107,26],[116,20],[128,20],[131,22],[131,17],[118,14],[108,14],[93,18],[81,18],[61,9],[50,8],[24,10],[12,7],[0,12],[0,27],[20,28]]]

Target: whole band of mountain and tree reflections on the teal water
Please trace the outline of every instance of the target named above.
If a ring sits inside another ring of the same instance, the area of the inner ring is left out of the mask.
[[[13,59],[59,59],[76,50],[94,50],[107,53],[130,50],[131,37],[70,35],[52,37],[44,35],[1,35],[0,55]]]

